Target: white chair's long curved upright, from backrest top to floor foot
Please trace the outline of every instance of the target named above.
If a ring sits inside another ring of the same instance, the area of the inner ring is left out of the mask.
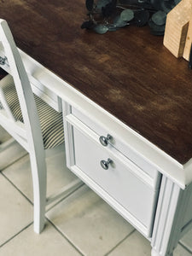
[[[40,232],[44,228],[44,211],[46,196],[46,165],[44,155],[44,144],[41,135],[40,124],[38,120],[38,111],[33,99],[31,85],[26,75],[25,68],[20,58],[18,49],[15,46],[14,39],[9,26],[5,20],[0,20],[0,38],[4,51],[9,61],[11,74],[15,81],[15,88],[20,100],[20,108],[24,119],[28,152],[30,154],[33,180],[33,197],[34,197],[34,230]],[[32,111],[31,111],[32,110]],[[9,119],[7,119],[8,122]],[[12,124],[10,129],[14,132],[19,122]],[[4,127],[4,126],[3,126]],[[18,142],[22,144],[23,137],[20,134]]]

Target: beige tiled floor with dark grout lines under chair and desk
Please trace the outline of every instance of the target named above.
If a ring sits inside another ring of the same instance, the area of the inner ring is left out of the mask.
[[[0,128],[0,143],[9,136]],[[15,160],[19,159],[19,160]],[[74,176],[61,152],[48,157],[48,193]],[[49,207],[41,235],[32,230],[29,157],[15,143],[0,154],[0,256],[149,256],[150,243],[86,185]],[[192,230],[174,256],[192,255]]]

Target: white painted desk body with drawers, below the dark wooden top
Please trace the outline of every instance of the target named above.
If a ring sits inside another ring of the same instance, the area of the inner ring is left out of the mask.
[[[171,255],[192,227],[189,168],[183,169],[70,84],[20,54],[33,91],[58,111],[62,102],[67,166],[151,241],[153,256]],[[9,72],[8,66],[3,68]],[[113,138],[104,147],[99,137],[108,134]],[[108,158],[113,163],[103,170],[100,161]]]

